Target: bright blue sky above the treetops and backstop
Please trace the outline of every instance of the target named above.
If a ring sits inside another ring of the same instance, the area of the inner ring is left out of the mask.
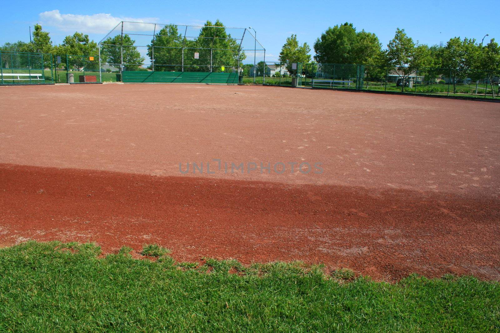
[[[429,45],[450,37],[476,38],[484,34],[500,40],[500,4],[490,1],[3,1],[0,45],[29,41],[28,26],[41,23],[52,40],[60,42],[75,30],[96,41],[121,19],[160,23],[201,24],[220,19],[226,26],[248,27],[266,48],[266,60],[277,59],[287,36],[297,34],[312,50],[314,40],[328,26],[352,22],[374,32],[385,46],[396,27]],[[100,14],[100,15],[99,15]],[[257,60],[259,56],[257,56]],[[248,60],[248,59],[247,59]],[[245,61],[249,62],[249,61]]]

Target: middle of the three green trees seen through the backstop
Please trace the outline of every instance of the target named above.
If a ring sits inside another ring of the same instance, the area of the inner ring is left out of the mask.
[[[186,46],[184,42],[177,25],[169,24],[161,28],[151,40],[151,44],[147,45],[147,56],[151,59],[151,64],[154,64],[154,70],[180,71],[182,46]],[[188,64],[188,61],[184,61],[184,64]]]

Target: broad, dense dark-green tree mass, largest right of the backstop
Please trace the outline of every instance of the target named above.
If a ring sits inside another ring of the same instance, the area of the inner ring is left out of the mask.
[[[314,59],[320,63],[373,64],[380,46],[374,33],[356,32],[352,23],[345,22],[329,27],[316,39]]]

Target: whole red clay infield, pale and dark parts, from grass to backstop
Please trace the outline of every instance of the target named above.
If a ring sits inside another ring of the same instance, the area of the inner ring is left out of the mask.
[[[1,245],[158,243],[178,260],[500,280],[500,104],[105,84],[0,87],[0,110]]]

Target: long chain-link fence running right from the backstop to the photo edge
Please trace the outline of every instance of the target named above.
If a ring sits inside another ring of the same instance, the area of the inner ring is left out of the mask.
[[[260,61],[245,71],[243,83],[410,94],[498,98],[500,70],[454,70],[358,64]],[[301,67],[301,68],[300,68]],[[255,74],[255,80],[253,78]]]

